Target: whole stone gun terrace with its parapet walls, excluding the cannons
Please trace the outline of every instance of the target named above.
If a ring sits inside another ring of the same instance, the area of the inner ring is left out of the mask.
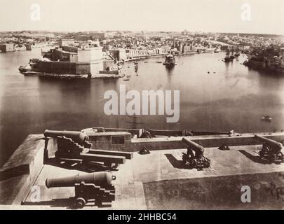
[[[115,130],[115,129],[113,129]],[[120,130],[121,131],[121,130]],[[90,132],[90,129],[85,130]],[[121,151],[133,152],[133,158],[119,165],[116,176],[116,199],[111,208],[86,206],[83,209],[283,209],[283,200],[276,197],[276,188],[284,186],[284,165],[265,164],[257,151],[261,145],[254,136],[262,135],[283,142],[284,133],[248,133],[187,136],[205,148],[212,162],[208,169],[184,169],[182,153],[187,146],[182,137],[131,138],[130,132],[102,132],[125,136]],[[108,148],[107,134],[89,134],[95,148]],[[92,140],[93,139],[93,140]],[[222,144],[229,151],[219,150]],[[142,148],[150,154],[140,155]],[[84,174],[83,170],[55,166],[46,162],[46,153],[53,155],[57,141],[42,134],[31,134],[0,169],[1,208],[73,209],[70,204],[74,188],[45,186],[47,178]],[[34,187],[40,189],[40,202],[34,202]],[[242,186],[250,186],[252,202],[241,201]],[[274,190],[274,191],[273,191]],[[230,197],[228,197],[230,195]]]

